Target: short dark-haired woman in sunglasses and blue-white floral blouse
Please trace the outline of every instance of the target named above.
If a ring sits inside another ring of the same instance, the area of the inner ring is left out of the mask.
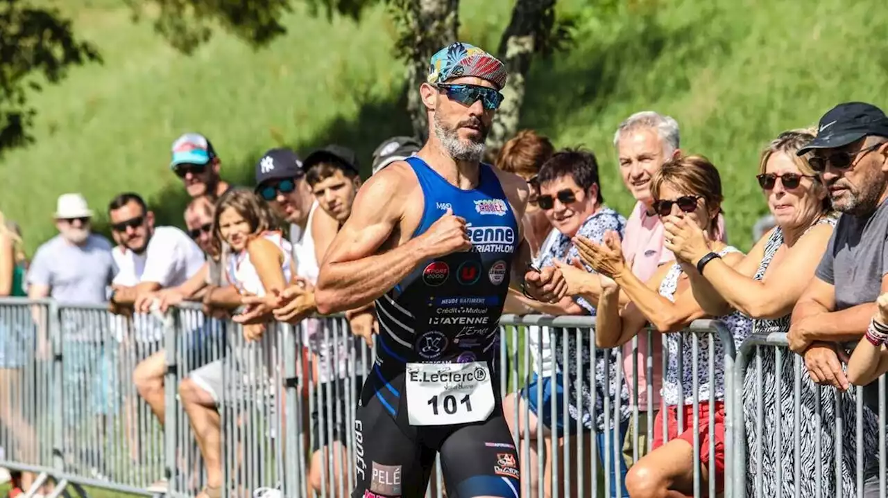
[[[539,266],[544,268],[558,262],[575,261],[579,263],[578,253],[571,239],[577,235],[591,240],[601,240],[607,231],[615,231],[622,234],[626,220],[613,209],[604,206],[604,198],[599,188],[598,163],[591,152],[566,150],[558,152],[547,160],[537,176],[540,185],[540,194],[537,204],[552,224],[553,230],[546,238],[543,253],[540,253]],[[579,268],[573,268],[581,271]],[[591,268],[587,268],[591,271]],[[556,305],[547,305],[539,302],[527,301],[527,306],[532,307],[536,313],[549,315],[595,315],[595,308],[582,298],[566,298]],[[543,331],[543,333],[548,333]],[[554,334],[554,360],[558,372],[551,380],[544,384],[543,399],[537,399],[537,389],[530,388],[522,392],[515,401],[522,420],[519,421],[519,434],[524,433],[524,424],[527,423],[531,439],[537,437],[561,438],[565,433],[576,434],[577,425],[582,426],[583,436],[591,436],[595,433],[595,443],[598,445],[599,460],[604,461],[606,452],[605,431],[613,428],[613,412],[609,416],[604,414],[604,400],[610,399],[612,407],[620,403],[620,435],[626,431],[630,416],[629,393],[625,382],[617,382],[617,374],[620,371],[616,363],[616,354],[613,351],[591,351],[591,340],[588,335],[568,333],[567,341],[561,331]],[[564,350],[567,348],[568,364],[562,364]],[[576,368],[576,358],[580,357],[580,369]],[[594,356],[594,357],[591,357]],[[590,372],[595,372],[595,383],[589,382]],[[605,385],[605,372],[609,383]],[[580,395],[577,396],[577,389]],[[593,390],[595,395],[593,396]],[[563,400],[567,396],[568,413],[563,413]],[[592,401],[595,401],[594,403]],[[551,418],[551,405],[555,405],[555,419]],[[503,410],[510,413],[512,407],[503,405]],[[523,420],[523,414],[529,409],[529,420]],[[613,409],[612,409],[613,410]],[[512,412],[513,413],[513,412]],[[569,416],[568,416],[569,414]],[[543,419],[543,434],[536,434],[537,416]],[[511,418],[511,417],[510,417]],[[571,438],[571,446],[577,438]],[[591,441],[584,441],[584,447],[589,447]],[[622,440],[619,442],[622,446]],[[542,457],[548,460],[547,455],[535,455],[536,445],[531,445],[529,459],[522,459],[522,473],[529,476],[531,489],[535,489],[537,465],[535,460]],[[612,449],[611,449],[612,450]],[[575,455],[576,449],[568,451]],[[527,462],[529,460],[529,462]],[[529,463],[529,464],[528,464]],[[611,482],[621,484],[622,496],[626,496],[625,487],[622,486],[626,473],[626,466],[622,459],[617,459],[619,466],[610,470]],[[583,475],[589,479],[591,472],[586,469],[572,469],[574,475]],[[589,489],[589,486],[586,486]],[[616,486],[612,486],[611,494],[616,495]]]

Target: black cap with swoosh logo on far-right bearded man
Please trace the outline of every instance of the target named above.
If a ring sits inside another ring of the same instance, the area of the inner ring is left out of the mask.
[[[875,105],[846,102],[823,114],[817,138],[799,149],[797,155],[814,149],[838,149],[870,135],[888,137],[888,117]]]

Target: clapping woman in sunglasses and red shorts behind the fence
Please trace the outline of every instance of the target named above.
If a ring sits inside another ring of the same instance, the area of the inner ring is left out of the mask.
[[[664,225],[694,224],[706,230],[711,255],[732,266],[743,259],[737,249],[718,241],[718,214],[723,200],[718,169],[702,156],[670,160],[651,179],[654,211]],[[669,240],[667,239],[667,244]],[[638,460],[626,477],[630,496],[665,496],[669,491],[694,494],[694,416],[699,423],[700,477],[705,494],[709,487],[709,469],[714,467],[717,493],[724,489],[725,472],[725,346],[718,338],[710,351],[707,337],[700,337],[694,356],[694,333],[682,332],[705,312],[694,299],[687,273],[697,271],[677,262],[658,268],[643,283],[623,261],[620,240],[608,233],[605,244],[577,237],[583,261],[607,277],[601,278],[604,291],[599,297],[595,338],[600,347],[623,345],[646,330],[651,323],[656,331],[668,334],[663,343],[669,351],[666,376],[662,381],[662,401],[666,405],[654,420],[654,451]],[[703,263],[704,264],[704,263]],[[625,292],[631,302],[620,308],[619,294]],[[719,317],[731,331],[736,345],[749,336],[749,318],[736,312]],[[712,377],[708,369],[710,354],[715,356]],[[683,363],[679,369],[679,359]],[[698,385],[694,390],[693,366],[698,365]],[[710,393],[713,406],[710,406]],[[699,411],[694,414],[694,401]],[[714,425],[710,427],[710,411]],[[666,434],[663,425],[666,425]],[[669,442],[665,442],[669,440]],[[710,440],[715,454],[710,455]]]

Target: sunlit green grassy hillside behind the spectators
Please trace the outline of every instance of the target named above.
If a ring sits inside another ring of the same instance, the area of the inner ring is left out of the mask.
[[[369,162],[381,140],[409,131],[382,8],[360,23],[297,10],[289,35],[266,49],[218,34],[189,58],[149,24],[133,25],[122,2],[63,4],[105,64],[36,95],[36,143],[0,163],[0,210],[20,222],[29,252],[54,233],[55,198],[66,191],[82,191],[102,214],[115,193],[139,191],[163,222],[180,224],[186,196],[167,164],[184,131],[210,136],[237,183],[250,182],[272,146],[339,141]],[[511,2],[462,4],[462,38],[495,48]],[[611,140],[632,112],[670,113],[682,148],[718,165],[732,242],[748,248],[765,213],[753,178],[759,148],[840,101],[888,108],[888,10],[877,0],[637,0],[608,15],[587,4],[559,2],[580,14],[577,43],[535,63],[523,124],[595,151],[607,202],[624,213],[631,199]]]

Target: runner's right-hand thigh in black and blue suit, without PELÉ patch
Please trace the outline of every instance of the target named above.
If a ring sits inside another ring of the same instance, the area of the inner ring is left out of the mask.
[[[483,424],[453,432],[440,458],[448,498],[519,497],[518,453],[500,410]]]

